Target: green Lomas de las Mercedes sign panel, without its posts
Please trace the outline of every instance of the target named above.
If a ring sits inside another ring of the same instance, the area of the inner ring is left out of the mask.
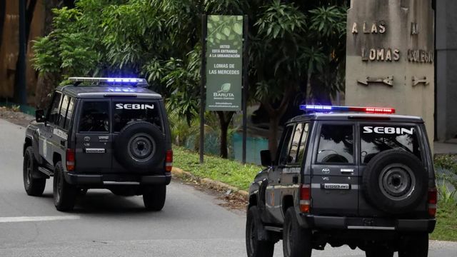
[[[209,15],[206,37],[206,110],[241,111],[243,16]]]

